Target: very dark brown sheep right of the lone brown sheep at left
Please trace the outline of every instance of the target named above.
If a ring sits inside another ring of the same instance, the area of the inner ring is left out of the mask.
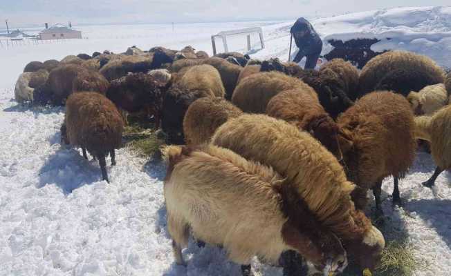
[[[156,128],[160,126],[163,95],[154,77],[139,72],[115,79],[111,81],[107,97],[127,112],[153,115]]]

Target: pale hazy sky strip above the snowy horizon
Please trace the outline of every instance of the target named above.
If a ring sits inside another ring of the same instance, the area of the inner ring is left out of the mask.
[[[0,28],[45,22],[212,22],[293,19],[398,6],[449,6],[450,0],[0,0]]]

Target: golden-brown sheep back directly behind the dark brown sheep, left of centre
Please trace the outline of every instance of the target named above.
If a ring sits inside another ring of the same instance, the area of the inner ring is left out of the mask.
[[[100,69],[100,73],[108,81],[119,79],[127,75],[128,72],[147,72],[152,68],[152,59],[145,56],[121,56],[120,59],[113,59]]]

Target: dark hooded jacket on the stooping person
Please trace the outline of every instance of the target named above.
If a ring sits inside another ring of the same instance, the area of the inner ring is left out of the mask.
[[[320,36],[315,32],[311,23],[301,17],[297,19],[295,25],[291,27],[291,34],[299,31],[306,31],[304,37],[295,37],[295,43],[299,48],[299,54],[301,57],[312,54],[320,54],[322,50],[322,40]]]

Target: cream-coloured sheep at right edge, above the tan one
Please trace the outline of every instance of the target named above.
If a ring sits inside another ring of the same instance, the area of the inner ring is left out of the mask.
[[[407,95],[415,115],[431,115],[448,104],[448,94],[443,83],[426,86],[419,92]]]

